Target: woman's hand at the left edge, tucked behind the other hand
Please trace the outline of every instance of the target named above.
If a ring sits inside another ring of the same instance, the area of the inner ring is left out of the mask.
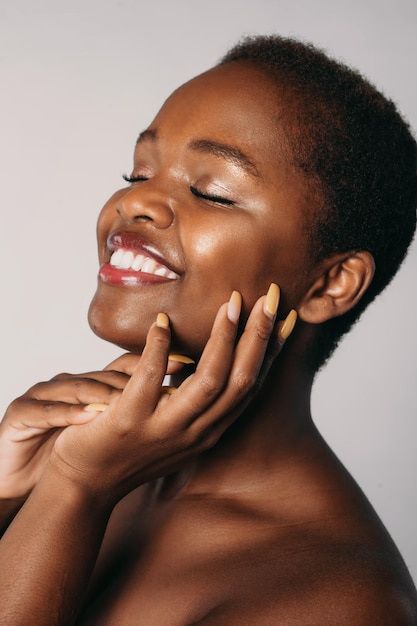
[[[25,498],[39,481],[64,428],[98,415],[90,404],[110,404],[125,388],[139,356],[123,355],[106,370],[59,374],[14,400],[0,423],[0,499]]]

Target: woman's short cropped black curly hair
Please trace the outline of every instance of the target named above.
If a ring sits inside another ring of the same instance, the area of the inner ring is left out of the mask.
[[[406,255],[416,227],[417,145],[392,101],[312,44],[250,36],[219,65],[234,61],[256,64],[295,103],[286,134],[291,160],[315,190],[309,220],[314,260],[367,250],[375,261],[374,279],[359,303],[318,327],[308,353],[317,370]]]

